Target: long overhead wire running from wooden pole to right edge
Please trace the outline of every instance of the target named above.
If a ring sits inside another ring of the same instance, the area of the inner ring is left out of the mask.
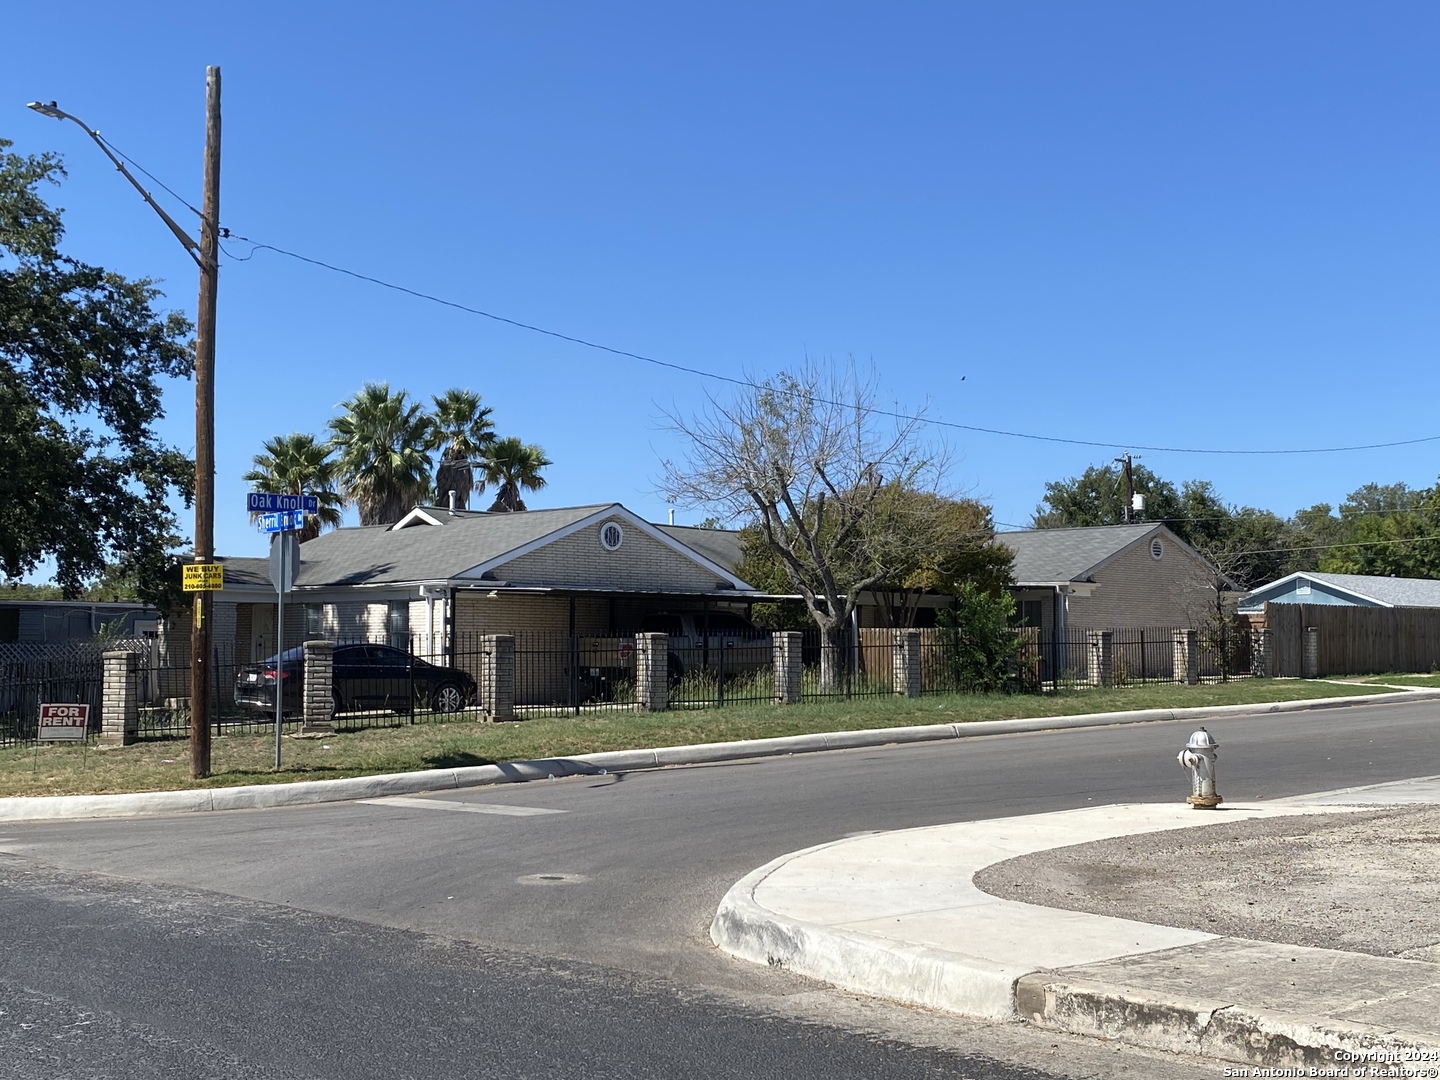
[[[700,369],[700,367],[690,367],[687,364],[678,364],[678,363],[674,363],[671,360],[660,360],[658,357],[645,356],[644,353],[634,353],[634,351],[631,351],[628,348],[616,348],[613,346],[606,346],[606,344],[602,344],[599,341],[590,341],[590,340],[583,338],[583,337],[575,337],[573,334],[562,334],[559,330],[547,330],[546,327],[539,327],[539,325],[534,325],[533,323],[521,323],[517,318],[508,318],[505,315],[497,315],[492,311],[485,311],[482,308],[469,307],[468,304],[461,304],[461,302],[454,301],[454,300],[445,300],[444,297],[436,297],[436,295],[433,295],[431,292],[423,292],[420,289],[412,289],[412,288],[409,288],[406,285],[396,285],[395,282],[384,281],[383,278],[376,278],[376,276],[369,275],[369,274],[360,274],[359,271],[347,269],[344,266],[337,266],[337,265],[334,265],[331,262],[325,262],[323,259],[315,259],[315,258],[311,258],[308,255],[301,255],[298,252],[287,251],[284,248],[275,246],[274,243],[261,243],[258,240],[249,239],[248,236],[240,236],[238,233],[230,233],[228,230],[225,230],[223,235],[228,236],[228,238],[233,236],[233,239],[236,239],[236,240],[243,240],[245,243],[253,245],[251,248],[251,253],[249,255],[246,255],[243,258],[232,256],[232,258],[236,259],[236,262],[248,262],[249,259],[252,259],[255,256],[255,252],[272,251],[276,255],[284,255],[285,258],[295,259],[298,262],[305,262],[305,264],[308,264],[311,266],[320,266],[323,269],[333,271],[336,274],[343,274],[343,275],[346,275],[348,278],[354,278],[356,281],[366,281],[366,282],[370,282],[372,285],[379,285],[382,288],[393,289],[395,292],[403,292],[405,295],[415,297],[416,300],[426,300],[426,301],[429,301],[432,304],[439,304],[441,307],[454,308],[456,311],[464,311],[464,312],[471,314],[471,315],[480,315],[482,318],[494,320],[495,323],[504,323],[505,325],[517,327],[518,330],[528,330],[530,333],[534,333],[534,334],[544,334],[546,337],[553,337],[553,338],[557,338],[560,341],[569,341],[572,344],[585,346],[586,348],[596,348],[596,350],[599,350],[602,353],[609,353],[612,356],[624,356],[624,357],[628,357],[631,360],[639,360],[642,363],[654,364],[657,367],[667,367],[667,369],[670,369],[672,372],[683,372],[685,374],[694,374],[694,376],[698,376],[701,379],[711,379],[714,382],[729,383],[732,386],[743,386],[743,387],[750,389],[750,390],[766,389],[766,387],[763,387],[759,383],[750,382],[749,379],[736,379],[733,376],[717,374],[714,372],[706,372],[704,369]],[[835,405],[835,406],[851,408],[851,406],[848,406],[848,405],[845,405],[842,402],[829,402],[829,400],[825,400],[825,399],[816,399],[816,400],[821,402],[822,405]],[[891,410],[891,409],[865,408],[864,412],[868,412],[873,416],[886,416],[888,419],[906,420],[906,422],[913,422],[913,423],[929,423],[929,425],[937,426],[937,428],[950,428],[953,431],[978,432],[981,435],[1001,435],[1001,436],[1009,438],[1009,439],[1030,439],[1030,441],[1034,441],[1034,442],[1057,442],[1057,444],[1064,444],[1064,445],[1068,445],[1068,446],[1094,446],[1094,448],[1100,448],[1100,449],[1132,449],[1132,451],[1138,451],[1139,449],[1139,451],[1151,451],[1153,454],[1211,454],[1211,455],[1243,455],[1243,456],[1279,456],[1279,455],[1296,455],[1296,454],[1352,454],[1352,452],[1356,452],[1356,451],[1391,449],[1391,448],[1395,448],[1395,446],[1416,446],[1416,445],[1420,445],[1420,444],[1424,444],[1424,442],[1440,442],[1440,435],[1426,435],[1426,436],[1417,438],[1417,439],[1397,439],[1394,442],[1368,442],[1368,444],[1359,444],[1359,445],[1355,445],[1355,446],[1302,446],[1302,448],[1289,448],[1289,449],[1211,449],[1211,448],[1200,448],[1200,446],[1146,446],[1143,444],[1135,444],[1135,442],[1102,442],[1102,441],[1097,441],[1097,439],[1067,439],[1067,438],[1061,438],[1058,435],[1035,435],[1034,432],[1004,431],[1001,428],[981,428],[981,426],[972,425],[972,423],[956,423],[955,420],[939,420],[939,419],[933,419],[933,418],[929,418],[929,416],[916,416],[913,413],[903,413],[903,412],[897,412],[897,410]]]

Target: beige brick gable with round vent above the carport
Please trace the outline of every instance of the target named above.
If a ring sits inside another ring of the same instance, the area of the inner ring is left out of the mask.
[[[495,567],[495,576],[516,585],[589,586],[603,589],[674,589],[710,592],[721,580],[678,552],[647,536],[632,523],[618,552],[600,546],[603,521]]]

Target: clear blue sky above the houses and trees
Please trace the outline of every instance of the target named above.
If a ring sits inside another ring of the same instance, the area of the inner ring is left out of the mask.
[[[854,356],[900,408],[1115,444],[948,432],[950,485],[1005,523],[1125,446],[1440,435],[1433,4],[53,3],[6,35],[32,45],[0,135],[65,156],[68,251],[192,314],[189,256],[26,101],[199,203],[217,63],[240,236],[710,372]],[[724,393],[272,252],[228,259],[219,300],[225,554],[266,550],[261,442],[366,380],[480,392],[554,461],[531,505],[654,520],[661,410]],[[167,405],[192,449],[192,386]],[[1140,451],[1283,514],[1433,484],[1437,452]]]

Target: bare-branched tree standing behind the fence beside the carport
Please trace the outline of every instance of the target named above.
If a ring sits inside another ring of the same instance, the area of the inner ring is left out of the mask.
[[[887,492],[937,475],[920,416],[876,405],[874,376],[808,361],[742,386],[700,413],[668,413],[684,436],[664,462],[671,501],[726,521],[755,521],[821,634],[821,685],[838,683],[838,649],[860,595],[891,573],[894,530],[877,528]],[[900,520],[890,516],[891,520]]]

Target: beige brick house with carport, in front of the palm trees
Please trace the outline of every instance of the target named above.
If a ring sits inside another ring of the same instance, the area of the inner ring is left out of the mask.
[[[337,528],[300,549],[285,641],[390,642],[436,660],[481,634],[603,635],[655,611],[749,613],[773,599],[733,572],[733,533],[655,526],[619,503],[491,514],[416,507],[393,526]],[[265,559],[220,559],[220,667],[276,651]],[[166,619],[161,658],[189,662],[189,615]]]

